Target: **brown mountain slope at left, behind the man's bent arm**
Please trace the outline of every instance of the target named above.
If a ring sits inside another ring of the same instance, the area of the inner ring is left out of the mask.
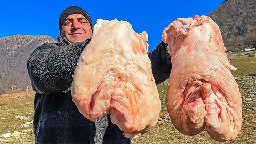
[[[0,94],[27,91],[31,81],[27,73],[27,60],[37,46],[55,42],[46,35],[14,35],[0,38]]]

